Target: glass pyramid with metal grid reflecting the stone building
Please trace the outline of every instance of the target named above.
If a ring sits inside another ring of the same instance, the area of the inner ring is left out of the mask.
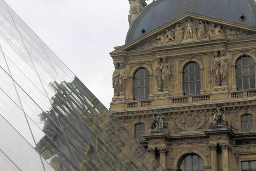
[[[163,171],[0,0],[0,171]]]

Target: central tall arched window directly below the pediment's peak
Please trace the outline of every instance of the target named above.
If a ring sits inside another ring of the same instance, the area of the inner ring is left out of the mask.
[[[183,69],[184,95],[200,94],[200,67],[199,64],[188,63]]]

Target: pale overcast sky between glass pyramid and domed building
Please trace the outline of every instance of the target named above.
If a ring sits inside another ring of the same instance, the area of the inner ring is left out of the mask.
[[[5,1],[109,108],[114,70],[109,53],[125,42],[129,1]]]

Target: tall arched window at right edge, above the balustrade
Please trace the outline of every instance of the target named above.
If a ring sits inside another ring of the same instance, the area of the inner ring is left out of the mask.
[[[236,87],[238,90],[255,88],[254,60],[242,56],[236,62]]]

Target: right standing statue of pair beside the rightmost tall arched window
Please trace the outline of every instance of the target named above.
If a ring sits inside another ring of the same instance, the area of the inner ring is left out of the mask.
[[[227,84],[227,74],[228,74],[228,58],[225,56],[225,52],[220,52],[220,81],[221,85]]]

